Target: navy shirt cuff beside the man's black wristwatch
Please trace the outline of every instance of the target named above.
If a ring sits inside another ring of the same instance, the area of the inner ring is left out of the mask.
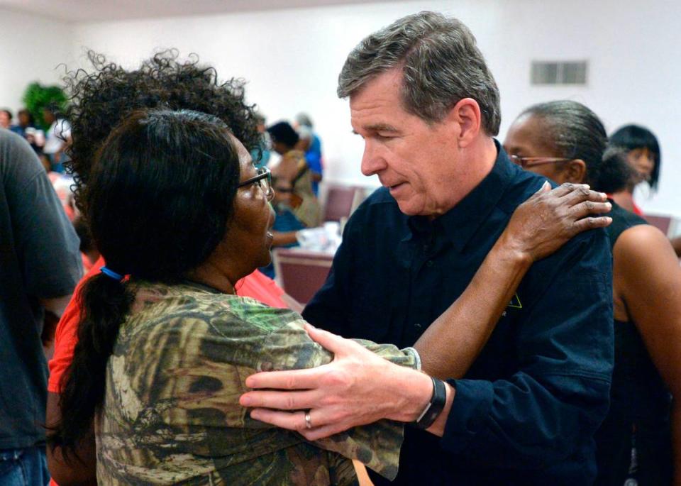
[[[494,386],[485,380],[447,380],[456,390],[447,417],[441,446],[450,453],[460,453],[487,426],[492,410]]]

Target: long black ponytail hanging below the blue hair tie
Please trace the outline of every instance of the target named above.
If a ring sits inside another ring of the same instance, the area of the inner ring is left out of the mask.
[[[60,399],[60,408],[68,413],[48,434],[50,445],[61,447],[65,458],[77,456],[77,445],[89,433],[92,417],[104,401],[106,364],[133,296],[126,283],[100,273],[84,283],[77,299],[82,303],[78,342],[62,377]]]

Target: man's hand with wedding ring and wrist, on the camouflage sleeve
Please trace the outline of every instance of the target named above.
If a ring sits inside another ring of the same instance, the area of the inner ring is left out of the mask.
[[[328,365],[294,371],[263,372],[246,379],[252,388],[278,388],[243,394],[240,403],[255,408],[251,417],[299,431],[314,441],[380,419],[415,421],[426,408],[433,382],[428,375],[394,365],[359,343],[306,325],[310,337],[334,354]],[[447,387],[446,417],[453,399]],[[290,410],[290,412],[288,412]],[[309,413],[309,425],[306,414]],[[445,420],[431,426],[439,435]]]

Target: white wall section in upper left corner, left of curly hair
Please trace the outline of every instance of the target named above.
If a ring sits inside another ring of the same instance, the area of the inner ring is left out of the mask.
[[[38,81],[59,84],[71,59],[72,33],[67,23],[0,9],[0,107],[13,112],[23,108],[26,86]]]

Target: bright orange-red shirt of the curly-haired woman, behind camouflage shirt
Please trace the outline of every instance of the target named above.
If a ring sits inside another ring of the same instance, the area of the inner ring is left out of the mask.
[[[55,353],[50,360],[50,379],[48,380],[48,392],[60,393],[60,381],[62,375],[71,364],[73,358],[73,350],[76,346],[77,336],[76,331],[78,321],[80,318],[80,304],[77,302],[76,295],[83,282],[91,275],[99,272],[99,269],[104,266],[104,259],[99,258],[97,262],[92,265],[89,272],[78,282],[74,291],[74,297],[69,302],[62,319],[57,324],[55,331]],[[287,305],[282,300],[284,290],[279,287],[274,280],[262,275],[258,270],[252,274],[244,277],[236,282],[234,286],[236,293],[243,297],[253,297],[263,304],[272,307],[284,308]]]

